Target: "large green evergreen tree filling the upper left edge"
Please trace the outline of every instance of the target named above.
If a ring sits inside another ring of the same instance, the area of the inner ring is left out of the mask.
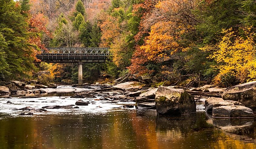
[[[0,80],[21,78],[35,68],[28,43],[27,18],[13,0],[0,0],[0,3]]]

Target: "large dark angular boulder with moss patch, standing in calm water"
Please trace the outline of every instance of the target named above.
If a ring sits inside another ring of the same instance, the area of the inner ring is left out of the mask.
[[[194,97],[184,89],[160,86],[155,93],[158,115],[181,115],[196,112]]]

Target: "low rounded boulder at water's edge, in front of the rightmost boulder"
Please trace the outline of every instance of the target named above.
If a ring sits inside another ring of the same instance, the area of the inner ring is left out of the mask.
[[[232,100],[217,102],[212,108],[212,117],[248,118],[254,117],[253,111],[242,103]]]

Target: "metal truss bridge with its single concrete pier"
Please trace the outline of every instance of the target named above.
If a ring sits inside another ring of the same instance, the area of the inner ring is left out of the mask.
[[[48,63],[78,63],[78,84],[83,84],[83,63],[103,63],[109,48],[47,48],[36,58]]]

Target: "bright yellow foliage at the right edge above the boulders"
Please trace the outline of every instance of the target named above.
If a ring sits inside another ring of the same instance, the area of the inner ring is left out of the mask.
[[[223,29],[224,36],[219,43],[201,48],[210,52],[208,58],[218,63],[212,66],[219,69],[215,83],[220,83],[225,74],[235,76],[242,83],[256,80],[255,34],[251,28],[241,29],[244,31],[243,36],[238,35],[232,28]]]

